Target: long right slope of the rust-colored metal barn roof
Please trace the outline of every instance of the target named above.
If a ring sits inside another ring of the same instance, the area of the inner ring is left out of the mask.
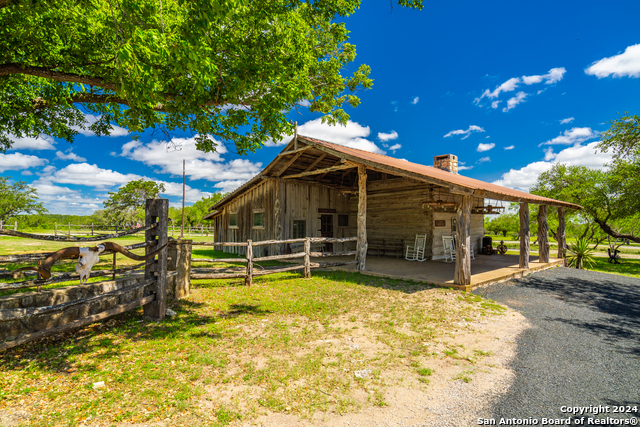
[[[331,142],[322,141],[315,138],[309,138],[307,136],[298,135],[298,140],[309,142],[314,145],[320,145],[322,147],[329,148],[331,150],[347,154],[349,156],[357,157],[370,162],[378,163],[380,165],[388,166],[394,169],[413,172],[425,177],[434,178],[443,182],[459,185],[461,187],[468,188],[470,190],[485,190],[491,193],[516,197],[523,201],[529,201],[537,204],[562,204],[571,209],[582,209],[582,206],[575,205],[573,203],[563,202],[561,200],[549,199],[547,197],[537,196],[535,194],[526,193],[524,191],[513,190],[511,188],[502,187],[500,185],[491,184],[488,182],[480,181],[478,179],[469,178],[459,175],[457,173],[448,172],[442,169],[437,169],[432,166],[425,166],[418,163],[412,163],[406,160],[396,159],[393,157],[385,156],[382,154],[371,153],[369,151],[358,150],[357,148],[349,148],[344,145],[333,144]]]

